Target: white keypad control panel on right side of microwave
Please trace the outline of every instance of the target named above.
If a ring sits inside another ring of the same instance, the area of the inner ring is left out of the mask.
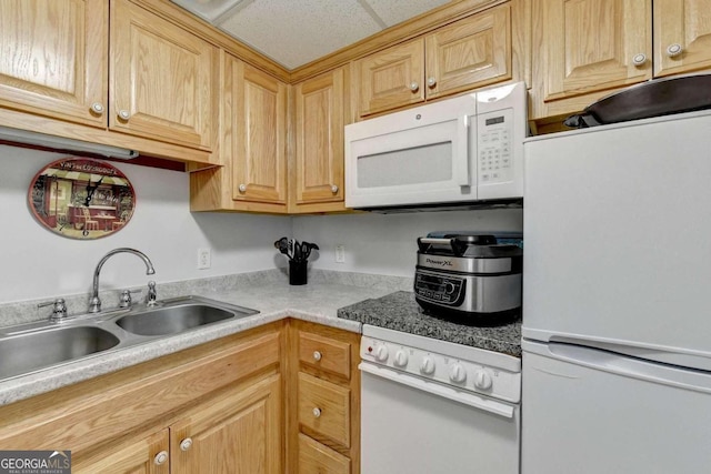
[[[511,109],[477,117],[479,184],[513,180],[513,111]]]

